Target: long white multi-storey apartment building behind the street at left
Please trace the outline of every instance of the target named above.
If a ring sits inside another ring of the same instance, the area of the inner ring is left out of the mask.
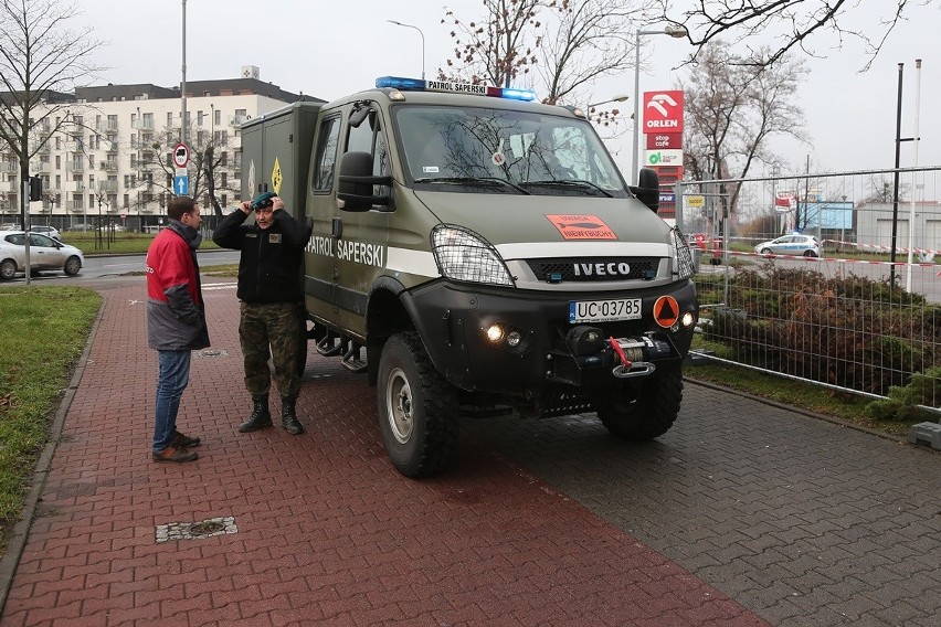
[[[309,96],[258,79],[254,66],[242,77],[186,85],[186,119],[179,87],[152,84],[81,87],[57,94],[56,110],[34,134],[40,146],[30,174],[43,182],[41,202],[30,203],[30,221],[67,229],[84,223],[156,225],[173,193],[171,151],[186,125],[191,161],[190,195],[211,206],[240,199],[242,123]],[[54,129],[59,130],[55,131]],[[0,223],[19,222],[20,166],[0,140]]]

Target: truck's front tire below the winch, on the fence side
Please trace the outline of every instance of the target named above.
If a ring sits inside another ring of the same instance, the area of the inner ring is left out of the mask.
[[[634,402],[615,400],[599,407],[598,417],[618,439],[647,442],[673,426],[683,402],[683,373],[655,374],[645,381]]]

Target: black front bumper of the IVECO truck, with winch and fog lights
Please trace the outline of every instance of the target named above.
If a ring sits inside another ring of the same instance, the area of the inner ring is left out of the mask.
[[[641,299],[639,317],[572,323],[573,301],[598,293],[532,293],[435,281],[403,295],[435,368],[466,391],[520,392],[556,384],[603,387],[676,369],[696,325],[691,281],[604,293]],[[669,299],[673,318],[654,308]],[[664,326],[664,323],[668,323]]]

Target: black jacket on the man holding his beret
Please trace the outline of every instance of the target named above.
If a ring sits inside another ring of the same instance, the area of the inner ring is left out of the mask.
[[[268,229],[258,229],[255,223],[243,224],[247,217],[236,209],[219,223],[212,235],[212,241],[223,248],[242,251],[239,299],[245,302],[303,300],[304,247],[313,230],[284,210],[274,212],[274,222]]]

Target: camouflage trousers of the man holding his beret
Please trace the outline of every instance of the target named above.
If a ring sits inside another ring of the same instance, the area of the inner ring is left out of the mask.
[[[298,360],[307,341],[297,302],[242,302],[239,339],[245,359],[245,387],[252,396],[271,389],[268,357],[274,365],[277,390],[285,398],[300,393]]]

